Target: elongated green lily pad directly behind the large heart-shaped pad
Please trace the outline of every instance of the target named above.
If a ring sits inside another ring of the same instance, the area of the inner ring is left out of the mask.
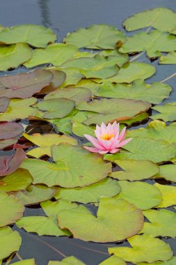
[[[118,195],[119,192],[118,182],[106,178],[83,188],[60,188],[54,197],[56,199],[67,199],[69,202],[87,204],[89,202],[99,202],[101,197],[113,197]]]

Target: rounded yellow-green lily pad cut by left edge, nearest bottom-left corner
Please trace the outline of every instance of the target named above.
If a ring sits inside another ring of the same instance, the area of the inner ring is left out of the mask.
[[[11,253],[19,250],[22,238],[17,231],[10,227],[0,228],[0,259],[5,259]]]

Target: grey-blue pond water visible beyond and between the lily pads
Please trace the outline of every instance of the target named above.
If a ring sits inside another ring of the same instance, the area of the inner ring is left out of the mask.
[[[79,27],[88,27],[90,24],[112,24],[122,29],[122,21],[134,13],[150,8],[166,7],[176,11],[175,0],[1,0],[0,1],[0,24],[13,26],[15,24],[42,24],[54,29],[58,40],[69,31]],[[145,56],[139,60],[149,62]],[[173,66],[159,66],[158,61],[152,63],[157,67],[157,73],[147,82],[161,81],[176,71]],[[19,70],[15,70],[17,73]],[[2,73],[1,73],[2,74]],[[176,100],[176,77],[169,79],[168,84],[173,87],[171,96],[164,100],[170,102]],[[144,125],[146,126],[146,125]],[[50,130],[49,127],[36,126],[38,132]],[[34,132],[34,131],[33,131]],[[33,133],[32,132],[32,133]],[[42,215],[41,209],[26,208],[25,215]],[[17,227],[14,227],[17,229]],[[88,265],[97,265],[108,256],[109,246],[128,245],[127,242],[115,243],[88,243],[78,239],[66,237],[37,236],[20,229],[22,247],[19,255],[23,259],[35,257],[37,265],[47,265],[49,260],[61,260],[65,256],[74,255]],[[176,243],[173,239],[163,239],[170,243],[175,250]],[[17,257],[13,259],[17,261]]]

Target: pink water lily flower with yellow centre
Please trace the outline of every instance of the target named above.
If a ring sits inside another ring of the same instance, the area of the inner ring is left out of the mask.
[[[128,138],[125,140],[126,134],[126,127],[120,132],[120,125],[116,121],[113,124],[109,123],[108,126],[102,123],[100,127],[98,125],[96,126],[95,135],[97,138],[84,135],[95,147],[83,147],[93,153],[117,153],[120,151],[120,147],[132,139]]]

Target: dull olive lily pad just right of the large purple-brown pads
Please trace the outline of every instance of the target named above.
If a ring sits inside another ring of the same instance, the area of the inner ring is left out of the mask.
[[[83,87],[65,87],[64,89],[57,89],[52,91],[47,96],[45,100],[50,98],[68,98],[74,100],[76,104],[81,103],[82,101],[88,101],[92,96],[92,93],[89,89]]]

